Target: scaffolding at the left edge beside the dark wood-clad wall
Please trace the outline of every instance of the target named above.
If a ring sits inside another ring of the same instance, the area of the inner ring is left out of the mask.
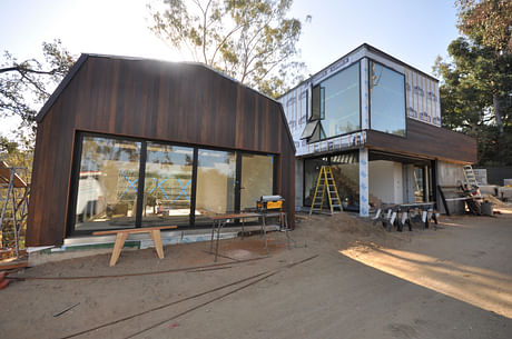
[[[0,161],[0,259],[20,258],[20,247],[24,248],[30,186],[22,177],[27,175],[27,168]]]

